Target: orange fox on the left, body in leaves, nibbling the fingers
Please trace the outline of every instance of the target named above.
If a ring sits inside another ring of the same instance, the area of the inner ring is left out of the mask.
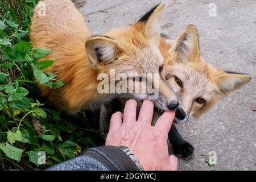
[[[35,7],[30,40],[33,47],[52,50],[43,60],[54,60],[55,63],[45,71],[56,74],[65,82],[56,90],[39,85],[42,95],[58,109],[75,114],[112,100],[117,93],[100,94],[97,90],[100,83],[97,76],[101,73],[110,76],[111,68],[115,69],[115,75],[159,73],[162,69],[159,42],[164,3],[134,25],[97,36],[90,35],[84,18],[71,1],[45,0],[40,3],[46,8],[46,13],[40,14],[42,6]],[[159,96],[153,100],[155,106],[175,110],[179,105],[175,94],[161,77],[158,78]],[[157,87],[154,82],[152,84]],[[118,95],[144,100],[150,93]]]

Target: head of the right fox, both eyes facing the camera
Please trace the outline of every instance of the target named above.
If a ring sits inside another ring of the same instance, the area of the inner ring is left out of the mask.
[[[250,76],[226,72],[205,63],[200,57],[196,27],[189,25],[176,40],[163,38],[160,44],[164,56],[161,76],[176,94],[180,106],[176,109],[177,123],[199,118],[218,100],[241,88]]]

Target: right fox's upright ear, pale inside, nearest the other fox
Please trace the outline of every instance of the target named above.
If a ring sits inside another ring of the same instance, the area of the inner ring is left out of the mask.
[[[189,24],[175,39],[169,51],[174,61],[199,61],[200,47],[196,27]]]

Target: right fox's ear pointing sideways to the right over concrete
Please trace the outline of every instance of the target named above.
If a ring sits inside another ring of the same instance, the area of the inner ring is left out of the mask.
[[[222,93],[228,94],[233,92],[243,85],[247,84],[251,80],[248,75],[242,75],[239,73],[222,73],[215,77],[215,83]]]

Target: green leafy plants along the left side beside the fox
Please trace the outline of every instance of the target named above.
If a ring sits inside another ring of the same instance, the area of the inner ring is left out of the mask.
[[[0,166],[2,169],[44,169],[73,158],[81,148],[95,146],[102,137],[86,118],[65,117],[40,98],[36,85],[57,89],[65,83],[44,72],[54,60],[38,61],[51,53],[32,48],[28,39],[37,0],[0,2]],[[66,119],[64,119],[66,118]],[[81,127],[82,126],[82,127]],[[89,135],[88,135],[89,134]],[[40,163],[40,151],[46,164]],[[1,168],[0,168],[1,169]]]

